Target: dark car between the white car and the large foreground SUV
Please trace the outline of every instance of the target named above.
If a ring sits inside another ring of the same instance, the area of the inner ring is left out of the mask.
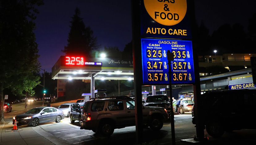
[[[71,123],[74,123],[75,120],[80,122],[80,120],[82,118],[83,105],[84,105],[84,102],[83,103],[75,103],[72,106],[71,111],[70,111],[70,122]],[[80,122],[80,125],[81,125],[81,122]]]

